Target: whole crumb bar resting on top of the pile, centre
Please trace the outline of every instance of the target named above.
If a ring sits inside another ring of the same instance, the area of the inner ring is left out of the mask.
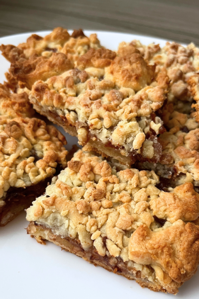
[[[110,50],[92,49],[88,58],[89,52],[79,58],[82,71],[75,68],[34,83],[30,102],[89,150],[127,165],[140,155],[156,161],[156,135],[164,128],[154,112],[166,99],[166,87],[153,80],[139,54],[120,59]]]

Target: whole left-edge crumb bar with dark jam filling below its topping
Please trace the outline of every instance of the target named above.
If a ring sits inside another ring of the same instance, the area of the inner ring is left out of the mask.
[[[65,137],[36,118],[0,116],[0,226],[44,193],[66,167]]]

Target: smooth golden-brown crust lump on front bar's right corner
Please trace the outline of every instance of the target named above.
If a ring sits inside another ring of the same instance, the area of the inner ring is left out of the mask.
[[[178,220],[154,232],[142,225],[129,240],[129,252],[136,263],[151,264],[159,281],[182,283],[192,277],[198,260],[198,226]]]

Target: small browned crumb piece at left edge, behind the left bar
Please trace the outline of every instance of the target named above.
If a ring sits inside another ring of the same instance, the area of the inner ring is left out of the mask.
[[[0,115],[16,118],[32,117],[33,114],[34,109],[26,92],[11,93],[6,84],[0,84]]]

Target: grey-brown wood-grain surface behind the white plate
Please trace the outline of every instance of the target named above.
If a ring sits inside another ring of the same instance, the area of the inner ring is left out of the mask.
[[[199,45],[199,1],[0,0],[0,36],[57,26],[139,33]]]

